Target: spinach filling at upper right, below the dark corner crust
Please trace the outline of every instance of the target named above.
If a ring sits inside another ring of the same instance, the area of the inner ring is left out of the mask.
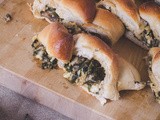
[[[160,41],[154,37],[153,32],[148,24],[146,24],[145,29],[142,32],[142,40],[143,43],[149,48],[159,47],[160,45]]]

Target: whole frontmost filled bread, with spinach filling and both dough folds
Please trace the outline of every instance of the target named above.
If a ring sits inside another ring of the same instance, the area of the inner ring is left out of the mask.
[[[33,38],[33,55],[43,69],[62,68],[64,77],[102,104],[118,100],[120,90],[140,90],[137,70],[107,44],[86,33],[72,37],[60,23],[52,23]]]

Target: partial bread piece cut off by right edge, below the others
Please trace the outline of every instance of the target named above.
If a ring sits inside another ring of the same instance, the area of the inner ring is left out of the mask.
[[[150,87],[154,92],[156,100],[160,103],[160,48],[152,48],[149,51],[149,77]]]

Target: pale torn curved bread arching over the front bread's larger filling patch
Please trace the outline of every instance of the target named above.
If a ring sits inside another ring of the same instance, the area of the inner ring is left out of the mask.
[[[116,58],[110,58],[104,52],[102,52],[101,50],[102,48],[93,46],[93,44],[91,44],[91,42],[93,42],[92,39],[98,39],[98,38],[86,34],[79,34],[77,36],[75,44],[76,54],[78,56],[83,56],[88,59],[94,58],[95,60],[99,61],[102,67],[104,67],[105,69],[106,76],[102,83],[102,89],[100,91],[100,94],[96,97],[98,97],[98,99],[103,99],[103,100],[104,99],[118,100],[119,92],[117,90],[117,74],[116,74],[116,72],[118,71],[117,68],[113,66],[114,64],[117,64],[115,62]]]

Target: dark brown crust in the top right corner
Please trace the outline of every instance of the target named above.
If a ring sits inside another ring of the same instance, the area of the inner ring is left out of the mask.
[[[139,11],[142,14],[152,16],[160,21],[160,6],[155,2],[146,2],[139,7]]]

